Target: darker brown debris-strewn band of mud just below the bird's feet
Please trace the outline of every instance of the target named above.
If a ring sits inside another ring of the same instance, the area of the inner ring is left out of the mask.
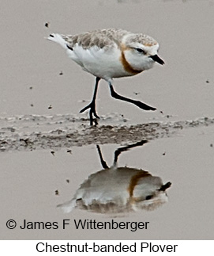
[[[38,117],[36,123],[45,120],[46,117]],[[53,119],[54,120],[54,117]],[[30,120],[32,122],[32,120]],[[35,122],[35,120],[34,120]],[[71,120],[69,120],[69,124]],[[56,125],[63,124],[57,121]],[[64,128],[57,128],[49,132],[38,131],[41,125],[37,125],[36,132],[19,132],[17,129],[0,129],[0,151],[33,151],[37,149],[51,149],[54,155],[58,149],[66,148],[71,154],[70,148],[85,146],[89,144],[105,143],[134,143],[141,139],[159,139],[175,136],[176,132],[184,128],[205,127],[214,124],[214,118],[200,118],[197,120],[183,120],[175,122],[153,122],[136,124],[130,126],[102,125],[88,127],[79,125],[78,128],[71,128],[66,125]]]

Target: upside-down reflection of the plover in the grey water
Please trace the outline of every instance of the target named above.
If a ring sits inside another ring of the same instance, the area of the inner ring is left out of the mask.
[[[103,160],[100,147],[97,146],[103,170],[91,174],[85,180],[71,201],[59,204],[64,212],[74,208],[100,213],[136,212],[152,210],[167,202],[166,190],[171,182],[163,185],[160,177],[152,176],[148,171],[130,167],[118,167],[118,156],[130,148],[142,146],[147,141],[120,147],[115,151],[111,167]]]

